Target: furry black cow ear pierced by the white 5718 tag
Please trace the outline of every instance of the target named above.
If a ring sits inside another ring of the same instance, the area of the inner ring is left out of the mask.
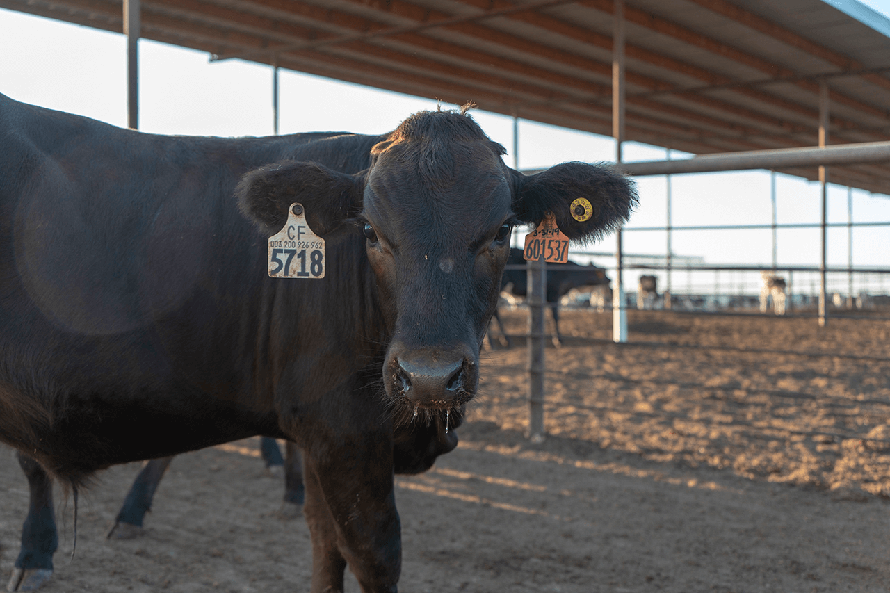
[[[292,161],[247,173],[235,197],[241,212],[270,235],[287,222],[287,208],[299,202],[309,227],[323,237],[360,210],[364,184],[364,173],[346,175]]]

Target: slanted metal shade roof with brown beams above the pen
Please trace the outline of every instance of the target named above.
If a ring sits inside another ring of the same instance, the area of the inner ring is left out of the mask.
[[[121,0],[0,0],[111,31]],[[890,20],[854,0],[626,0],[626,139],[696,154],[890,140]],[[142,0],[142,37],[611,135],[612,0]],[[815,167],[784,169],[817,178]],[[829,180],[890,191],[890,163]]]

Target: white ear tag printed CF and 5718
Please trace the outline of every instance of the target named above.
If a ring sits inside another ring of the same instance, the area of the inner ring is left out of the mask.
[[[287,208],[284,228],[269,238],[272,278],[324,278],[325,240],[306,223],[302,204]]]

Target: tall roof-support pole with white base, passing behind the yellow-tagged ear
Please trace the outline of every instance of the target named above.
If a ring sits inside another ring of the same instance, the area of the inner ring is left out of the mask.
[[[615,162],[622,162],[624,142],[624,0],[615,0],[612,19],[612,136]],[[627,299],[624,296],[624,262],[621,229],[615,233],[615,289],[612,291],[612,340],[627,342]]]

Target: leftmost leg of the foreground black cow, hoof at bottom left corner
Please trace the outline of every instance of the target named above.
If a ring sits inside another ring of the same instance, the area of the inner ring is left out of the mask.
[[[53,512],[53,481],[34,459],[18,453],[28,476],[28,516],[21,526],[21,549],[12,569],[10,591],[32,591],[53,575],[53,554],[59,547]]]

